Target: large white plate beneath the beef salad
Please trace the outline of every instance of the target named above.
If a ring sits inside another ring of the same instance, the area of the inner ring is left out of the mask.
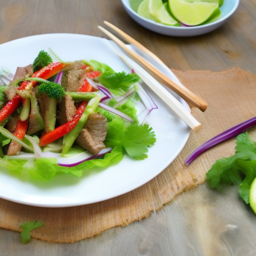
[[[29,36],[0,45],[0,67],[7,67],[14,73],[17,66],[31,63],[41,49],[48,50],[50,47],[64,61],[96,59],[107,63],[115,71],[129,72],[111,45],[106,39],[80,34]],[[171,72],[168,74],[173,75]],[[158,106],[146,117],[157,140],[149,149],[148,158],[138,161],[125,156],[116,165],[84,173],[80,178],[59,174],[50,181],[32,183],[1,170],[0,197],[35,206],[74,206],[115,197],[154,178],[183,148],[190,129],[152,91],[148,89],[148,92]],[[189,109],[183,100],[180,101]]]

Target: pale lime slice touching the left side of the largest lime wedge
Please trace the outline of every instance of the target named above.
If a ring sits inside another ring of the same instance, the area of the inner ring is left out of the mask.
[[[170,15],[167,8],[167,2],[162,3],[162,0],[149,0],[149,12],[158,22],[171,26],[180,25],[180,23]]]

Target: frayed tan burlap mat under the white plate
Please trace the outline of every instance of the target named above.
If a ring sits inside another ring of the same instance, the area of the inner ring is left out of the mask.
[[[192,108],[202,128],[191,132],[181,153],[165,170],[129,193],[88,205],[42,208],[0,199],[0,227],[21,231],[20,224],[40,220],[45,226],[34,229],[32,237],[74,242],[148,217],[176,194],[202,183],[217,158],[234,152],[234,139],[206,151],[189,166],[183,164],[184,159],[207,139],[255,115],[256,76],[239,68],[221,72],[173,72],[209,106],[204,113]]]

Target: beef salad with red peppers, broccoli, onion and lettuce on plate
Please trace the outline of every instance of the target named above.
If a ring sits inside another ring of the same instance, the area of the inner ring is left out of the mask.
[[[139,120],[157,106],[134,72],[96,60],[53,62],[41,50],[14,75],[3,70],[0,84],[0,164],[21,179],[81,176],[124,154],[142,160],[156,141]]]

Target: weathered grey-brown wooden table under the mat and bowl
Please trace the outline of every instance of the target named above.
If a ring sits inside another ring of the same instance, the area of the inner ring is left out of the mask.
[[[142,42],[169,67],[219,71],[238,66],[256,71],[256,1],[241,0],[219,29],[196,37],[151,32],[133,21],[120,0],[1,0],[0,43],[44,33],[104,37],[107,20]],[[201,184],[176,196],[150,217],[114,227],[73,244],[32,239],[0,229],[3,255],[256,255],[256,218],[236,187],[218,193]]]

